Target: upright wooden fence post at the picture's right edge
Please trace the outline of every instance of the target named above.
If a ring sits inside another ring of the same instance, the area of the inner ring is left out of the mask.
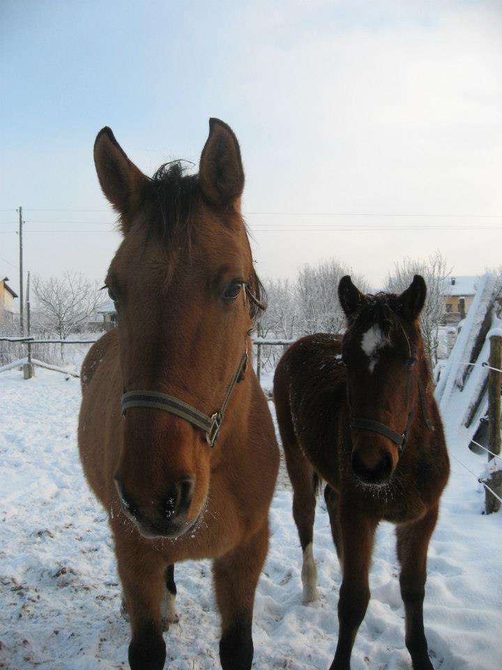
[[[490,357],[489,366],[491,368],[502,368],[502,336],[492,335],[490,337]],[[489,370],[488,373],[488,448],[494,454],[501,453],[501,382],[502,373],[497,370]],[[494,456],[488,454],[488,458],[492,459]],[[496,462],[497,459],[494,459]],[[489,475],[487,485],[498,496],[502,498],[502,470],[496,470]],[[500,500],[492,496],[487,489],[485,489],[485,512],[492,514],[498,512],[501,507]]]

